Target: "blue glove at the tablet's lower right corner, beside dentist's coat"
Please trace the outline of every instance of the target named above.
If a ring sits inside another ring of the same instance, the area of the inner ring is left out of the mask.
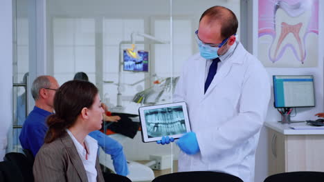
[[[188,132],[176,142],[179,148],[186,154],[197,154],[200,149],[195,132]]]

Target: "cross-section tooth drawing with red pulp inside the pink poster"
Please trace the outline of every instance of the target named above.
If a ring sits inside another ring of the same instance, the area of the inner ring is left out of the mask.
[[[276,3],[274,7],[276,37],[270,49],[271,61],[277,61],[285,52],[285,49],[291,48],[296,59],[304,62],[305,41],[302,41],[300,37],[304,37],[306,34],[307,24],[302,22],[309,20],[310,6],[309,1],[300,1],[291,6],[285,1]]]

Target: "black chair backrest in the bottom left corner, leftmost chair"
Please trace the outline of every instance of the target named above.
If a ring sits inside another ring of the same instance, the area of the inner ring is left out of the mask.
[[[9,161],[0,162],[0,181],[23,182],[23,176],[17,166]]]

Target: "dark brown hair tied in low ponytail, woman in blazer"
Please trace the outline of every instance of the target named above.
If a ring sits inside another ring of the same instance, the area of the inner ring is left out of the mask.
[[[55,93],[54,110],[47,118],[48,131],[45,143],[59,138],[71,127],[83,108],[90,108],[98,94],[98,88],[89,81],[73,80],[64,83]]]

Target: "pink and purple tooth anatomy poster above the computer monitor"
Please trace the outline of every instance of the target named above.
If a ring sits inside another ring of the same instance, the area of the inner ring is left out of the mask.
[[[258,59],[266,67],[318,63],[318,0],[259,0]]]

